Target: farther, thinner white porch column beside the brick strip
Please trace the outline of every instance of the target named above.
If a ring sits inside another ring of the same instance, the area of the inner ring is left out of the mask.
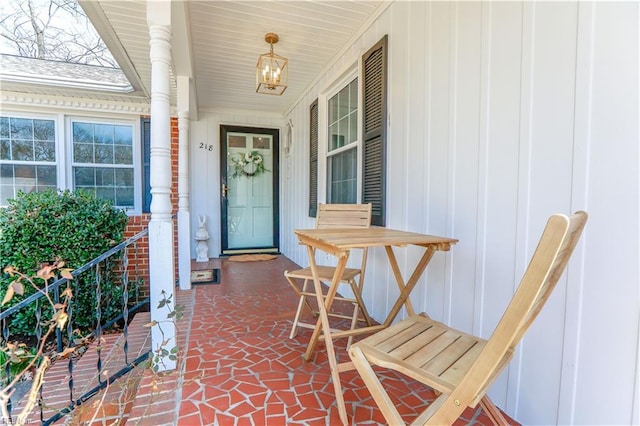
[[[189,77],[178,76],[178,276],[180,290],[191,288],[190,123]]]

